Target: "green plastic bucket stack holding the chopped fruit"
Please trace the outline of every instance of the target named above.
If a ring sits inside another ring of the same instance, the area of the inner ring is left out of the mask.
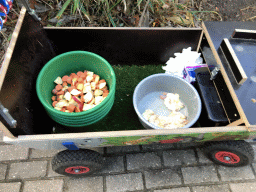
[[[108,96],[88,111],[66,113],[54,109],[51,100],[51,92],[56,86],[54,80],[84,70],[93,71],[106,80]],[[37,96],[47,114],[57,123],[70,127],[83,127],[103,119],[113,106],[115,89],[116,76],[111,65],[101,56],[87,51],[71,51],[54,57],[42,68],[36,81]]]

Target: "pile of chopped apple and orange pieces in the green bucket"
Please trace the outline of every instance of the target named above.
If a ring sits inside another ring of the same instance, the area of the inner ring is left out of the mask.
[[[52,106],[62,112],[87,111],[100,104],[109,93],[104,79],[92,71],[78,71],[57,77],[52,90]]]

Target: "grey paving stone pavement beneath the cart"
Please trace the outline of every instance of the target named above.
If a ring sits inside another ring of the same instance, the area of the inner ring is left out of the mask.
[[[250,141],[251,142],[251,141]],[[251,142],[256,154],[256,143]],[[59,150],[0,144],[0,192],[255,192],[256,158],[245,167],[212,163],[196,145],[106,147],[105,166],[87,177],[52,171]]]

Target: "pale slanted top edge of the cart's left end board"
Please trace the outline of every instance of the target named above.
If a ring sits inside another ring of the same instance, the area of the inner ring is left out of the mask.
[[[12,34],[10,44],[6,50],[5,58],[2,63],[2,68],[0,69],[0,90],[1,90],[3,82],[4,82],[5,74],[8,69],[12,54],[13,54],[13,50],[14,50],[14,47],[15,47],[15,44],[16,44],[16,41],[17,41],[17,38],[18,38],[18,35],[20,32],[20,28],[22,26],[23,19],[25,17],[25,13],[26,13],[26,9],[25,9],[25,7],[22,7],[22,9],[20,11],[20,16],[18,18],[17,24],[16,24],[15,29]]]

